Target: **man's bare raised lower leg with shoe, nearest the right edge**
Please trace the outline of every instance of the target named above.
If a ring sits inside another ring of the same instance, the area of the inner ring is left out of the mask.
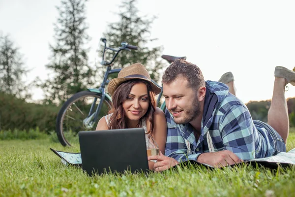
[[[273,95],[267,115],[268,125],[277,131],[287,144],[289,116],[285,98],[285,86],[288,83],[294,84],[295,72],[282,66],[276,66],[274,75]]]

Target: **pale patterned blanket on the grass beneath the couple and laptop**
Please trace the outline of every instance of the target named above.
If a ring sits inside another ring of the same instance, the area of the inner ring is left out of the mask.
[[[69,152],[63,152],[63,151],[57,151],[54,149],[52,150],[59,158],[61,159],[61,163],[64,165],[75,165],[75,166],[82,166],[82,159],[81,159],[81,154],[80,153],[69,153]],[[191,164],[196,164],[196,165],[205,165],[207,167],[212,167],[208,164],[202,164],[196,161],[187,161],[185,163],[191,163]],[[266,158],[259,158],[259,159],[254,159],[254,160],[248,160],[244,161],[244,163],[248,163],[251,165],[256,165],[259,164],[264,167],[269,167],[269,168],[277,168],[278,165],[282,167],[288,167],[295,165],[295,148],[286,152],[281,152],[277,155],[271,156],[271,157],[266,157]]]

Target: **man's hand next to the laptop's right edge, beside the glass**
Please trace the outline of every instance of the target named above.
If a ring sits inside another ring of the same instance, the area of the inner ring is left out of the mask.
[[[164,156],[161,151],[159,155],[149,156],[148,161],[150,160],[157,160],[157,162],[154,164],[154,170],[158,172],[164,171],[179,164],[176,159]]]

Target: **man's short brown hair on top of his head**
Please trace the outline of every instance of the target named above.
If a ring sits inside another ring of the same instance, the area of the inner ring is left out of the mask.
[[[205,86],[201,69],[197,65],[182,59],[178,59],[168,66],[163,74],[162,83],[170,84],[178,77],[186,78],[188,86],[193,90],[198,90],[201,86]]]

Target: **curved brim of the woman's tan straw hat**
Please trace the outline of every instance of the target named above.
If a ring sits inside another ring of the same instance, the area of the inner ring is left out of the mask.
[[[151,91],[155,94],[155,95],[158,95],[161,93],[162,89],[159,88],[157,85],[155,85],[153,82],[145,79],[145,78],[140,78],[140,77],[134,77],[134,78],[114,78],[112,79],[110,82],[109,82],[109,85],[108,85],[108,92],[110,93],[110,95],[113,95],[114,92],[117,90],[118,86],[125,82],[125,81],[129,81],[129,80],[132,80],[132,79],[141,79],[141,80],[144,80],[144,81],[147,81],[150,86],[151,86]]]

